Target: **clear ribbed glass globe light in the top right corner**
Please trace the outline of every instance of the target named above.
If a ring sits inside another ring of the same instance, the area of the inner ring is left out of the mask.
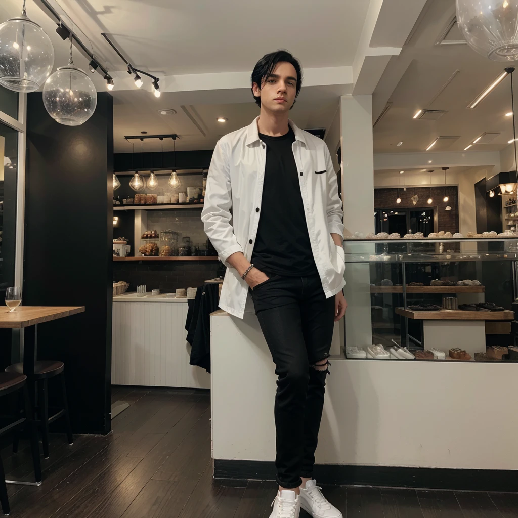
[[[457,24],[468,45],[494,61],[518,58],[516,0],[456,0]]]

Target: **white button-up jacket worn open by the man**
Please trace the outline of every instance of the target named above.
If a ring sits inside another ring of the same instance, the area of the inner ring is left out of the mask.
[[[257,119],[250,126],[225,135],[216,144],[202,211],[205,233],[221,261],[228,266],[219,306],[241,319],[249,298],[248,284],[226,260],[233,253],[242,252],[250,261],[254,248],[266,165],[266,145],[259,139]],[[292,121],[290,125],[295,133],[293,155],[299,171],[311,249],[329,298],[346,283],[343,248],[337,247],[331,237],[332,233],[343,235],[336,173],[325,142],[299,130]]]

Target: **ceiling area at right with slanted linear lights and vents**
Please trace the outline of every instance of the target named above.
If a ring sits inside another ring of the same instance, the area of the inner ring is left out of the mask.
[[[455,0],[429,0],[408,44],[385,69],[373,94],[375,120],[386,102],[392,105],[375,127],[375,153],[424,152],[439,136],[459,137],[443,151],[464,151],[483,132],[502,133],[491,143],[474,145],[468,153],[500,151],[513,138],[512,118],[505,117],[511,111],[509,78],[476,109],[466,108],[512,63],[485,59],[466,44],[436,45],[454,16]],[[461,39],[456,26],[446,38]],[[456,70],[456,77],[433,100]],[[423,108],[447,113],[437,121],[412,119]],[[400,141],[403,144],[397,147]]]

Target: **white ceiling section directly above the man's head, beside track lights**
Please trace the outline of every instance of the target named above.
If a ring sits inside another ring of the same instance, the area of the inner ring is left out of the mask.
[[[305,67],[350,65],[368,2],[61,0],[61,5],[81,20],[114,69],[125,67],[108,51],[101,32],[113,35],[138,68],[170,75],[251,70],[277,48],[290,49]]]

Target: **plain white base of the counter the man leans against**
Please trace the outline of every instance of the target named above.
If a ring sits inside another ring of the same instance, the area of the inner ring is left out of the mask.
[[[275,366],[257,318],[220,311],[211,333],[213,458],[274,461]],[[331,363],[317,463],[517,469],[518,413],[502,396],[514,365]]]

